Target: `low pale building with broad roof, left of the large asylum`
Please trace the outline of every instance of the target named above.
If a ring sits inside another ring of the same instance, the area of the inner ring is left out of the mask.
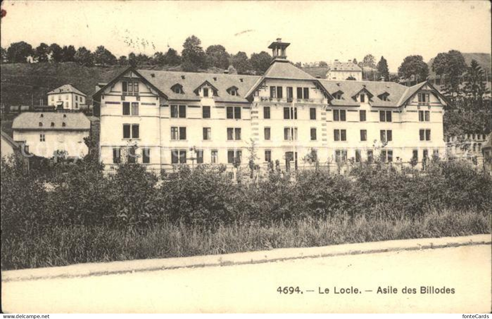
[[[82,158],[88,152],[84,137],[90,136],[91,121],[83,113],[26,112],[14,119],[12,130],[13,139],[35,156],[52,158],[65,151],[67,157]]]

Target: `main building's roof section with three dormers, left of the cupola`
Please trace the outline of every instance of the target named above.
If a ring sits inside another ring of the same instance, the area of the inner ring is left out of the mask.
[[[223,74],[223,73],[195,73],[195,72],[173,72],[173,71],[155,71],[155,70],[138,70],[152,85],[159,88],[169,100],[198,100],[200,97],[193,92],[206,81],[213,86],[218,93],[215,101],[225,102],[247,102],[246,95],[231,96],[227,89],[235,86],[240,92],[247,92],[255,83],[261,79],[261,76],[240,75],[240,74]],[[175,84],[183,86],[184,94],[174,93],[171,87]]]

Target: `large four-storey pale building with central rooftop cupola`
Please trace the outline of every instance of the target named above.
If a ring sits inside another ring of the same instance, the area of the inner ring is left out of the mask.
[[[93,96],[100,160],[246,163],[252,144],[257,162],[282,166],[308,154],[321,163],[444,155],[446,102],[431,84],[316,79],[286,60],[288,45],[270,45],[263,76],[127,68]],[[121,152],[131,145],[136,156]]]

